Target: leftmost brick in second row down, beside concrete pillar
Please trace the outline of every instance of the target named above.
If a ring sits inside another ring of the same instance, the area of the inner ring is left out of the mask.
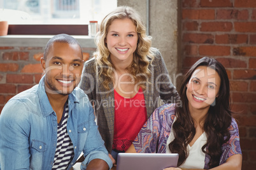
[[[215,10],[182,10],[182,18],[190,20],[214,20]]]

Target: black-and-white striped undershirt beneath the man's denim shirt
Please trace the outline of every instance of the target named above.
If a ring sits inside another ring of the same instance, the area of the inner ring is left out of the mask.
[[[57,147],[52,169],[67,169],[74,157],[73,143],[67,131],[68,101],[64,105],[63,114],[58,123]]]

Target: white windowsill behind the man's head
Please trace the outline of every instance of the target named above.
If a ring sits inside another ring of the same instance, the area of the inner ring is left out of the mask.
[[[22,47],[45,47],[48,40],[53,36],[38,35],[8,35],[0,36],[0,46],[22,46]],[[96,48],[94,38],[90,36],[73,36],[80,42],[82,47]]]

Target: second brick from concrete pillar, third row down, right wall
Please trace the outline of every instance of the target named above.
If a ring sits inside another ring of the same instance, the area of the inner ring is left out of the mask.
[[[202,22],[201,31],[231,31],[232,30],[231,22]]]

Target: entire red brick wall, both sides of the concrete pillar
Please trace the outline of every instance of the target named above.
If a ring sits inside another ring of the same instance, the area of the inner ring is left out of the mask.
[[[202,56],[217,58],[231,81],[243,169],[256,166],[256,1],[181,0],[183,70]],[[255,9],[255,10],[254,10]],[[88,57],[94,49],[83,48]],[[43,47],[0,47],[0,112],[12,96],[38,84]]]

